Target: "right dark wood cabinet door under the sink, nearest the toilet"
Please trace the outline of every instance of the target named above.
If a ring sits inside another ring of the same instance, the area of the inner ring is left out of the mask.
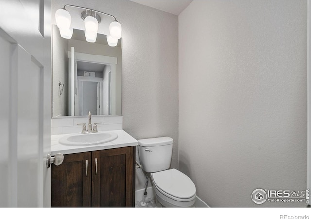
[[[94,151],[92,162],[92,206],[133,207],[135,146]]]

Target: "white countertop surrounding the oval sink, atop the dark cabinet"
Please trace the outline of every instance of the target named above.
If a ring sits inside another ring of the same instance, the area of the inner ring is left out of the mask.
[[[58,141],[63,136],[72,135],[72,134],[51,135],[51,156],[54,156],[57,153],[73,154],[73,153],[81,153],[81,152],[88,152],[88,151],[95,151],[95,150],[105,150],[105,149],[138,145],[137,140],[133,138],[132,136],[130,136],[128,133],[126,133],[124,130],[113,130],[113,131],[103,131],[103,132],[116,133],[118,134],[118,138],[116,138],[115,140],[111,142],[106,142],[106,143],[98,144],[98,145],[68,146],[68,145],[62,145]]]

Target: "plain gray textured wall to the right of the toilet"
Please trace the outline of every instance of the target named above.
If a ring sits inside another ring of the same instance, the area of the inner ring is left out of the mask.
[[[194,0],[179,15],[179,168],[209,206],[306,189],[306,42],[306,0]],[[276,206],[306,204],[260,205]]]

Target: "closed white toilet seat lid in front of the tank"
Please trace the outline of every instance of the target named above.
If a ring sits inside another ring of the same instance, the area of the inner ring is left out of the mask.
[[[196,197],[196,188],[192,180],[176,169],[150,173],[158,192],[175,201],[192,201]]]

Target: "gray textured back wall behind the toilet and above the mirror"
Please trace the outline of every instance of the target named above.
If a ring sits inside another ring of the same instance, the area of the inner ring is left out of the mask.
[[[178,16],[128,0],[52,0],[52,22],[65,4],[112,14],[121,23],[123,129],[136,139],[172,137],[172,168],[178,168]],[[72,24],[84,28],[82,20]],[[103,19],[99,26],[106,34]],[[136,173],[141,189],[145,178]]]

